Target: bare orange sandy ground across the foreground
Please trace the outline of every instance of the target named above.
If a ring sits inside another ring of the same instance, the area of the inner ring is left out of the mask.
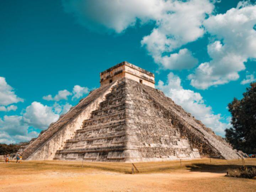
[[[256,191],[256,180],[195,166],[125,174],[90,167],[0,163],[0,191]]]

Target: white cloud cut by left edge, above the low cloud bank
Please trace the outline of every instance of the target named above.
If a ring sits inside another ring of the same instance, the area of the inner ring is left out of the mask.
[[[12,103],[23,102],[24,100],[19,98],[14,89],[7,84],[4,77],[0,77],[0,105],[9,105]]]

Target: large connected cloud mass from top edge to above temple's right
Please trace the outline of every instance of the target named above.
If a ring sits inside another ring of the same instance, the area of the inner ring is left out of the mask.
[[[167,69],[191,68],[197,64],[187,49],[180,50],[177,56],[172,51],[203,36],[202,23],[214,9],[209,0],[65,0],[63,6],[80,24],[98,32],[107,28],[121,33],[138,21],[140,24],[153,21],[155,28],[143,37],[141,44],[157,64]],[[182,53],[185,57],[181,57]]]

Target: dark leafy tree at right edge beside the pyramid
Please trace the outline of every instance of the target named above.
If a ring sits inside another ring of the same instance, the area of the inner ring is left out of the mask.
[[[238,150],[256,154],[256,82],[251,83],[244,98],[228,104],[233,127],[225,130],[226,140]]]

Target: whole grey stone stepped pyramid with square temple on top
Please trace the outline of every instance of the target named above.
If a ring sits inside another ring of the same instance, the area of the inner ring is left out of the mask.
[[[240,158],[225,140],[128,62],[100,73],[101,86],[22,151],[27,160],[162,161]]]

